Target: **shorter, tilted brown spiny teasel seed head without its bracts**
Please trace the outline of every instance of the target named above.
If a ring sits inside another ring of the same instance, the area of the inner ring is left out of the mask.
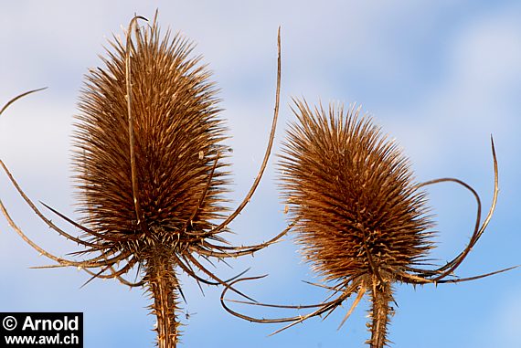
[[[432,224],[397,145],[359,110],[296,107],[280,166],[305,259],[338,280],[424,258]]]

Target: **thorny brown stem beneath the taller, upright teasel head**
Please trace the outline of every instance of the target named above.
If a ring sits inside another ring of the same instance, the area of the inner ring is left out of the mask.
[[[179,283],[170,258],[162,253],[149,258],[145,276],[149,291],[154,298],[151,306],[156,317],[157,346],[175,348],[179,337],[176,311],[179,309],[177,290]]]

